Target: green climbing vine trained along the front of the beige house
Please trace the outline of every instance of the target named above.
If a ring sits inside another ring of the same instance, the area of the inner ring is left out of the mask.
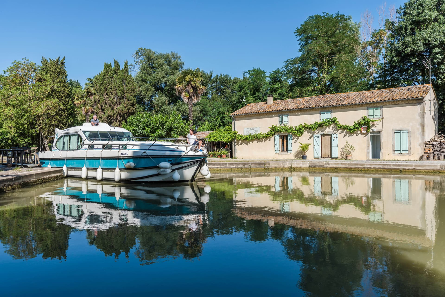
[[[223,142],[232,142],[235,138],[236,140],[242,140],[242,141],[251,141],[255,139],[265,139],[265,138],[271,138],[277,133],[287,133],[287,134],[293,134],[298,137],[301,137],[303,135],[304,131],[306,130],[317,130],[320,127],[328,127],[331,125],[336,125],[340,130],[346,130],[349,133],[355,133],[356,131],[360,130],[362,126],[367,126],[368,128],[371,127],[372,123],[378,122],[382,120],[382,118],[379,119],[370,119],[367,116],[363,116],[362,118],[355,121],[352,125],[344,125],[340,124],[338,122],[337,118],[330,118],[326,119],[321,122],[314,122],[313,124],[299,124],[298,126],[271,126],[269,127],[269,131],[266,133],[255,133],[255,134],[249,134],[249,135],[242,135],[238,134],[237,131],[232,131],[231,126],[227,126],[221,129],[218,129],[216,131],[211,132],[207,138],[209,141],[223,141]],[[369,131],[369,129],[368,129]]]

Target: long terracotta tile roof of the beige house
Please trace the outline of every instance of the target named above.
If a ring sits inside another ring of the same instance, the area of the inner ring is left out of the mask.
[[[297,110],[316,107],[342,106],[348,104],[385,102],[401,99],[425,98],[430,85],[413,85],[409,87],[372,90],[362,92],[326,94],[306,98],[277,100],[272,104],[267,102],[250,103],[233,112],[233,115],[256,114],[281,110]]]

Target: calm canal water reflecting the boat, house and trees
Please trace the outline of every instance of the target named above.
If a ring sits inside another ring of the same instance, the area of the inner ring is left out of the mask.
[[[0,196],[2,296],[444,296],[445,177],[62,179]]]

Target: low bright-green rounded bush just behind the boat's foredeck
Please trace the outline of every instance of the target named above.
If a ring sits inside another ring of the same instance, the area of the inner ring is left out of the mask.
[[[138,137],[179,138],[187,135],[191,123],[179,114],[142,112],[127,119],[123,127]]]

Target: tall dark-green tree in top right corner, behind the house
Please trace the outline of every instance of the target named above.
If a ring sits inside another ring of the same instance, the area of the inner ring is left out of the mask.
[[[445,14],[444,0],[408,1],[397,10],[393,41],[388,58],[390,85],[429,83],[429,70],[422,64],[431,59],[431,82],[440,103],[440,126],[444,126],[445,93]]]

